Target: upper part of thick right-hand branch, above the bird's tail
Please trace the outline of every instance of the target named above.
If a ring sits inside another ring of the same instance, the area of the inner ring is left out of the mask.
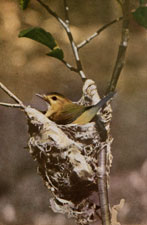
[[[121,3],[121,1],[119,1]],[[123,11],[123,24],[122,24],[122,34],[121,41],[118,49],[117,59],[113,69],[111,81],[107,88],[107,92],[114,91],[120,77],[120,73],[125,63],[125,54],[129,41],[129,0],[125,0],[123,4],[120,4]]]

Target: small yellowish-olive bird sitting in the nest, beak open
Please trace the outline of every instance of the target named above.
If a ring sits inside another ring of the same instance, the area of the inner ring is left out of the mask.
[[[97,104],[91,106],[79,105],[73,103],[70,99],[57,92],[49,94],[36,94],[47,103],[45,116],[56,124],[78,124],[84,125],[91,122],[97,112],[115,95],[110,92],[102,98]]]

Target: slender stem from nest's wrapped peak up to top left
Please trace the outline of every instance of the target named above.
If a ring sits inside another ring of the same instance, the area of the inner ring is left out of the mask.
[[[47,10],[47,12],[49,14],[51,14],[54,18],[56,18],[56,20],[58,20],[58,22],[62,25],[62,27],[66,31],[69,42],[70,42],[71,47],[72,47],[74,58],[75,58],[75,61],[76,61],[77,73],[79,73],[81,79],[83,81],[85,81],[86,75],[83,71],[82,63],[81,63],[80,58],[79,58],[78,49],[77,49],[77,46],[74,42],[74,39],[73,39],[73,36],[72,36],[72,33],[70,31],[70,28],[69,28],[68,24],[66,24],[48,5],[46,5],[44,2],[42,2],[42,0],[36,0],[36,1],[39,2]],[[66,2],[66,5],[67,5],[67,2]]]

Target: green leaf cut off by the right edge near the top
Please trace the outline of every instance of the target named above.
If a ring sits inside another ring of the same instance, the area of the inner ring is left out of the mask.
[[[136,11],[133,12],[133,17],[139,25],[147,28],[147,7],[140,6],[137,8]]]

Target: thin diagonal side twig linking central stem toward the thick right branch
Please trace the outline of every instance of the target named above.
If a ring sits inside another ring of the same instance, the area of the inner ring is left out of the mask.
[[[90,37],[88,37],[86,40],[82,41],[80,44],[77,45],[78,50],[82,47],[84,47],[85,45],[87,45],[90,41],[92,41],[94,38],[96,38],[102,31],[104,31],[106,28],[108,28],[109,26],[111,26],[112,24],[119,22],[123,19],[123,17],[119,17],[115,20],[112,20],[111,22],[105,24],[104,26],[102,26],[101,28],[99,28],[94,34],[92,34]]]

